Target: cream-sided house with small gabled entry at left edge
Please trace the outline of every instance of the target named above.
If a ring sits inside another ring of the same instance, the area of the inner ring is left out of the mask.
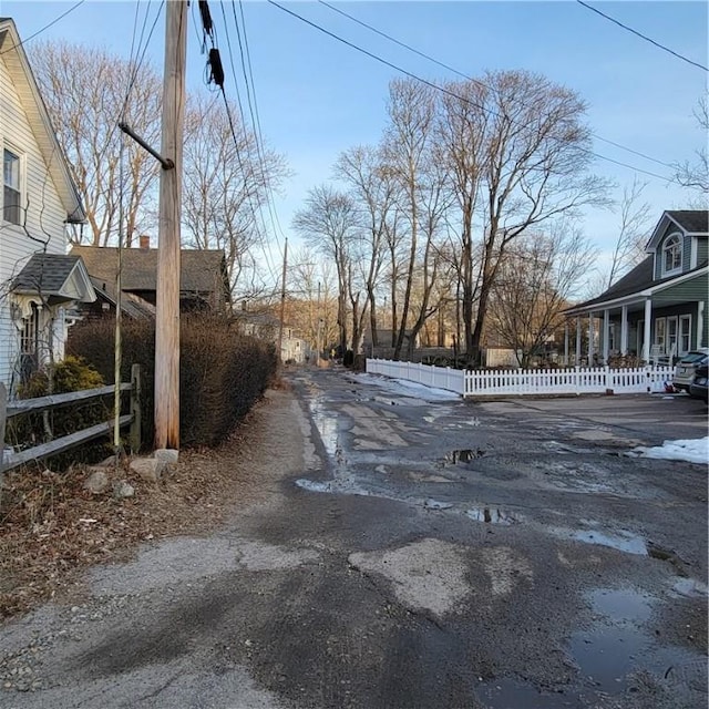
[[[0,19],[0,381],[63,356],[68,310],[95,294],[66,224],[85,219],[12,20]]]

